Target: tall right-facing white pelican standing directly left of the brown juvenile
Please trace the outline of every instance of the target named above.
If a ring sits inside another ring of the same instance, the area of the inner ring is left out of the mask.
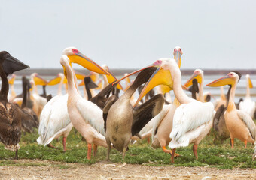
[[[64,74],[68,80],[68,113],[73,126],[86,139],[88,143],[87,158],[90,159],[92,144],[94,144],[94,152],[96,155],[97,145],[107,147],[104,134],[104,121],[102,118],[102,110],[90,101],[85,100],[78,93],[78,85],[76,83],[75,73],[70,65],[71,62],[78,63],[90,71],[99,74],[108,74],[99,65],[87,58],[78,49],[66,48],[60,58],[60,64],[63,66]],[[90,124],[91,125],[90,125]],[[93,128],[93,127],[95,128]],[[98,132],[98,131],[99,132]],[[102,133],[102,134],[101,134]]]

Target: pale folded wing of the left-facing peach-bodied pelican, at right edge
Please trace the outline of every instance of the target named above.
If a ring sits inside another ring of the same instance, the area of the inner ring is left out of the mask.
[[[255,140],[256,137],[256,125],[254,121],[252,120],[251,116],[248,115],[248,113],[245,113],[243,110],[236,110],[237,115],[239,118],[242,119],[242,121],[245,123],[245,125],[248,127],[248,130],[250,130],[252,139]]]

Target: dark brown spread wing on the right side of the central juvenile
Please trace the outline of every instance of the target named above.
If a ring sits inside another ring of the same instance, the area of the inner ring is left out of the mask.
[[[154,116],[160,113],[163,104],[163,95],[158,94],[133,110],[132,136],[139,133]]]

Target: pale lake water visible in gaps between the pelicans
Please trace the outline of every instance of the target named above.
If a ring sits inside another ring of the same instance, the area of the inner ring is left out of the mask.
[[[224,75],[223,75],[224,76]],[[216,80],[219,77],[223,77],[222,75],[208,75],[204,77],[204,83],[210,83],[212,82],[212,80]],[[53,79],[54,76],[44,76],[44,79],[46,80],[51,80]],[[99,76],[100,78],[102,78],[101,76]],[[117,76],[117,78],[120,78],[121,76]],[[130,77],[131,80],[133,80],[135,77]],[[190,76],[182,76],[182,84],[184,84],[188,78],[190,78]],[[78,80],[78,83],[80,83],[81,80]],[[251,81],[252,83],[254,83],[254,85],[256,86],[256,75],[251,75]],[[21,77],[17,76],[16,80],[14,82],[14,89],[15,92],[17,93],[17,95],[19,95],[22,92],[22,84],[21,84]],[[121,84],[123,85],[123,87],[125,87],[125,80],[123,80],[121,82]],[[224,86],[224,92],[227,93],[227,89],[229,86]],[[53,96],[57,94],[57,89],[58,89],[58,85],[56,86],[47,86],[46,90],[47,90],[47,94],[52,94]],[[79,87],[79,90],[81,92],[81,95],[84,95],[84,89],[82,86]],[[38,86],[38,92],[39,94],[42,93],[42,87]],[[64,94],[66,92],[66,89],[64,89],[64,86],[62,88],[62,93]],[[211,94],[213,95],[213,97],[215,99],[219,98],[220,95],[220,88],[213,88],[213,87],[207,87],[204,86],[204,92],[211,92]],[[256,88],[252,88],[250,89],[251,92],[251,98],[256,101]],[[122,93],[122,92],[121,92]],[[186,92],[187,95],[190,95],[190,92]],[[246,93],[246,80],[245,80],[245,76],[242,76],[241,80],[238,83],[238,86],[236,88],[236,101],[239,101],[239,98],[245,98],[245,93]],[[170,92],[170,94],[172,95],[172,99],[174,98],[174,94],[173,92]],[[139,93],[136,92],[136,98],[139,96]],[[211,100],[212,102],[214,101],[214,99],[212,98]]]

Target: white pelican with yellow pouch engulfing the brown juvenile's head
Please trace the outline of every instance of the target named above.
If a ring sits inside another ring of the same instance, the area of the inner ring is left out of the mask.
[[[174,59],[161,58],[154,62],[154,65],[159,68],[146,83],[138,101],[150,89],[159,84],[164,84],[173,89],[175,98],[178,99],[181,105],[176,108],[173,116],[172,132],[169,134],[172,141],[169,143],[169,148],[172,148],[172,154],[175,154],[176,148],[194,143],[193,151],[197,158],[197,145],[212,127],[212,118],[215,113],[213,104],[196,101],[183,92],[181,71]],[[173,162],[174,155],[172,155]]]

